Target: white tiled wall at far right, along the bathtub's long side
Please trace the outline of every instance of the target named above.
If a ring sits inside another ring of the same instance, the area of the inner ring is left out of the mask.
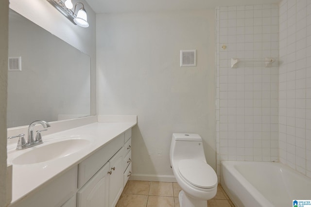
[[[283,0],[279,16],[279,159],[311,177],[311,0]]]

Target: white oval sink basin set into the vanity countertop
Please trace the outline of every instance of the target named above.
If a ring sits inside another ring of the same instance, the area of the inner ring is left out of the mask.
[[[66,157],[84,149],[91,142],[85,139],[69,139],[47,145],[37,145],[36,148],[13,159],[13,164],[34,164],[52,159]]]

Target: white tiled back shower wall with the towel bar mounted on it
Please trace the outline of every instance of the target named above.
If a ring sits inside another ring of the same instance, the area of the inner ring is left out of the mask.
[[[278,5],[216,9],[216,144],[220,160],[278,160]],[[231,58],[260,61],[272,67]]]

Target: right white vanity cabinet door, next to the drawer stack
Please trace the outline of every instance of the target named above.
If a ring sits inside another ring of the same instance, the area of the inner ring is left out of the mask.
[[[123,150],[119,150],[109,162],[109,207],[115,207],[123,190]]]

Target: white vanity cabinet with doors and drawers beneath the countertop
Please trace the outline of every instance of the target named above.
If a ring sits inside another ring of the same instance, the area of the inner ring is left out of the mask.
[[[115,207],[131,174],[131,133],[127,129],[9,207]]]

